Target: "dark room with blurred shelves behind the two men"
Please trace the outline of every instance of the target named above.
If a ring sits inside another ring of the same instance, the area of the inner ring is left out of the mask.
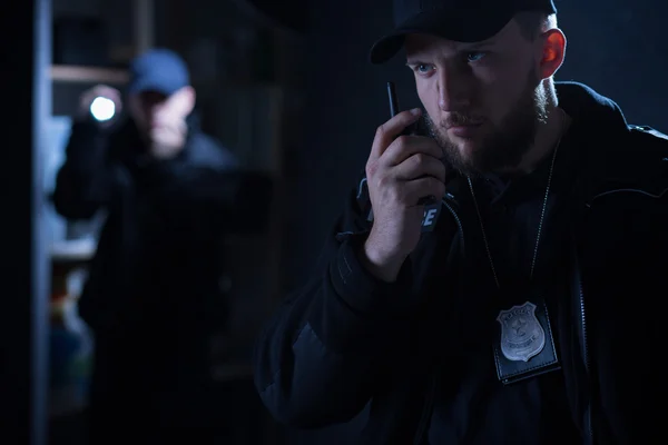
[[[556,79],[583,82],[612,98],[630,123],[668,130],[662,28],[668,3],[556,4],[568,36]],[[188,442],[186,432],[180,442],[358,443],[366,408],[350,422],[310,429],[274,418],[254,383],[253,354],[265,323],[312,277],[332,224],[357,185],[376,128],[389,118],[386,82],[396,83],[401,109],[421,105],[401,57],[384,66],[369,62],[371,44],[392,20],[390,0],[12,3],[0,27],[6,42],[0,444],[95,445],[86,432],[96,340],[77,305],[105,216],[88,222],[63,218],[52,194],[81,95],[97,85],[124,91],[130,61],[153,48],[183,57],[202,130],[266,187],[235,210],[255,224],[220,241],[233,259],[218,277],[225,301],[206,301],[202,309],[212,320],[203,327],[208,374],[198,407],[206,413],[200,419],[206,435],[191,436],[206,438]]]

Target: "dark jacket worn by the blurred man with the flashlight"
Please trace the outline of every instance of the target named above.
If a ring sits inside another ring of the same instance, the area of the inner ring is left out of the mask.
[[[233,155],[188,122],[186,147],[169,160],[146,156],[130,120],[72,127],[53,201],[70,220],[106,212],[79,305],[100,337],[223,324],[207,304],[225,299],[224,235],[245,224],[245,195],[259,188],[246,187]]]

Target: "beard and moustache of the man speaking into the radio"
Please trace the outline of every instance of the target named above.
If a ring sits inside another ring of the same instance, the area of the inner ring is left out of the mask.
[[[453,112],[448,121],[435,126],[429,115],[424,113],[430,136],[443,149],[445,160],[468,176],[509,170],[519,166],[536,140],[539,125],[546,123],[548,118],[547,97],[544,91],[538,88],[539,82],[538,76],[530,72],[525,89],[510,108],[501,125],[492,128],[468,156],[462,156],[456,144],[448,137],[445,128],[448,125],[474,122],[475,116]]]

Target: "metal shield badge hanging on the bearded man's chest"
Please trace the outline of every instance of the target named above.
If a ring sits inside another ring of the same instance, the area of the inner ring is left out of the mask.
[[[529,362],[546,347],[546,332],[536,317],[536,305],[527,301],[501,310],[501,353],[512,362]]]

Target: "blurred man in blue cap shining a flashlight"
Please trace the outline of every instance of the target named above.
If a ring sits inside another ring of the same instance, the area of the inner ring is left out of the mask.
[[[129,119],[95,119],[99,98]],[[194,107],[185,62],[149,51],[131,63],[127,101],[106,86],[81,96],[58,174],[58,212],[107,214],[79,305],[96,337],[96,445],[202,433],[206,422],[207,334],[225,322],[209,309],[225,298],[222,240],[240,186],[236,160],[199,130]]]

